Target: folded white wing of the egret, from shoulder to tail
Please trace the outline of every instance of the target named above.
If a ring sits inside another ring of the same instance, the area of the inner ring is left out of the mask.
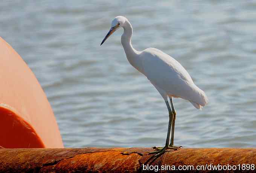
[[[204,106],[204,92],[198,88],[184,67],[171,56],[158,49],[146,49],[141,54],[145,76],[153,85],[174,97]],[[206,97],[206,96],[205,96]],[[202,100],[203,99],[203,100]]]

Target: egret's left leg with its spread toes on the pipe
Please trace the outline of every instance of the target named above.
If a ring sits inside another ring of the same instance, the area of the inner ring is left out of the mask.
[[[171,133],[171,126],[172,126],[172,121],[173,121],[173,113],[172,110],[169,106],[168,101],[165,102],[168,108],[168,112],[169,112],[169,123],[168,123],[168,132],[167,132],[167,137],[166,137],[166,143],[165,143],[165,147],[152,147],[152,149],[155,149],[156,151],[154,152],[149,152],[151,154],[157,154],[157,155],[161,155],[162,153],[165,152],[166,149],[174,149],[177,150],[178,148],[176,147],[171,147],[169,146],[169,141],[170,141],[170,133]]]

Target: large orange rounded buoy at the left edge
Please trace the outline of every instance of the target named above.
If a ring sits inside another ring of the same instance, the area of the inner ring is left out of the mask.
[[[0,146],[63,148],[52,108],[34,73],[0,37]]]

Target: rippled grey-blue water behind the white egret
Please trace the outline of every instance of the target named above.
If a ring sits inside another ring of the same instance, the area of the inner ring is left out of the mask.
[[[165,143],[165,102],[128,63],[123,30],[99,46],[117,15],[134,48],[168,53],[209,97],[202,111],[174,99],[176,145],[256,147],[255,1],[3,1],[0,36],[37,76],[65,147]]]

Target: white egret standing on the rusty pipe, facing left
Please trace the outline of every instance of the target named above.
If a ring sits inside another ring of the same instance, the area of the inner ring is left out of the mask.
[[[101,45],[120,27],[123,27],[124,30],[121,37],[121,43],[128,61],[134,68],[144,74],[152,85],[155,86],[165,100],[169,111],[169,124],[165,147],[153,147],[155,151],[151,153],[159,155],[165,152],[166,149],[178,150],[181,146],[174,146],[176,111],[174,109],[172,97],[188,100],[195,106],[195,108],[201,109],[201,107],[208,103],[207,96],[204,91],[194,84],[185,68],[171,56],[155,48],[148,48],[142,52],[135,50],[131,44],[133,28],[128,19],[123,16],[114,18],[111,28],[101,42]],[[168,97],[170,99],[171,108],[168,102]],[[170,133],[171,144],[169,145]]]

